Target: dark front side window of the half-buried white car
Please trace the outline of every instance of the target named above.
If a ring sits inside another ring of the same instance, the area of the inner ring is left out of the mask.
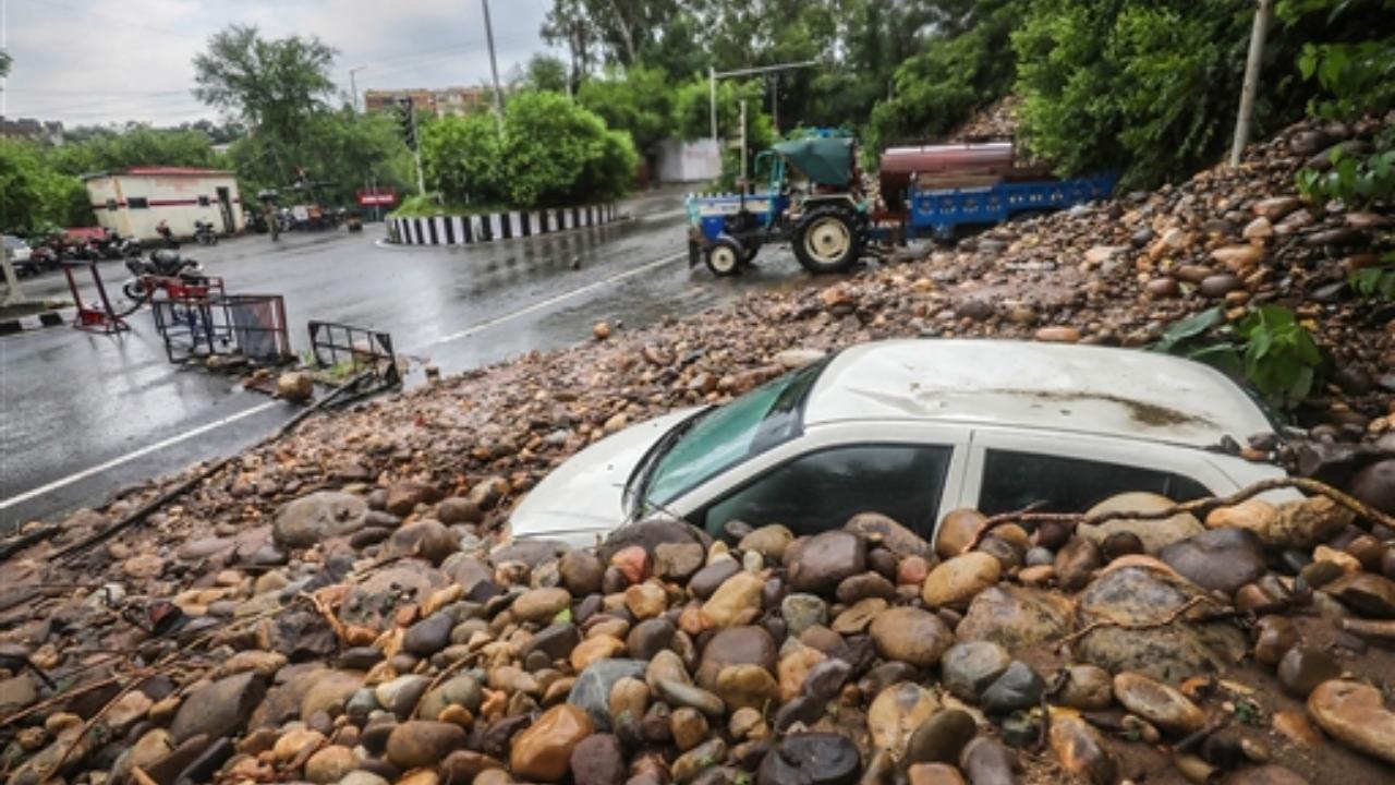
[[[799,455],[699,511],[717,535],[732,520],[784,524],[799,535],[843,527],[858,513],[882,513],[929,536],[939,513],[949,446],[861,444]]]

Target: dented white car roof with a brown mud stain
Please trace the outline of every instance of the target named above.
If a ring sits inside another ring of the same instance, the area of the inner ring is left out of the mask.
[[[1274,423],[1221,372],[1182,358],[1070,344],[900,339],[848,348],[809,392],[805,426],[928,420],[1209,447]]]

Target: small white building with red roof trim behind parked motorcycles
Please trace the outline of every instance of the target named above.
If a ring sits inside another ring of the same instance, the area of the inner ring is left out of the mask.
[[[165,221],[176,237],[194,235],[195,221],[208,221],[220,235],[246,226],[237,180],[232,172],[191,166],[133,166],[123,172],[85,175],[99,225],[123,237],[159,239]]]

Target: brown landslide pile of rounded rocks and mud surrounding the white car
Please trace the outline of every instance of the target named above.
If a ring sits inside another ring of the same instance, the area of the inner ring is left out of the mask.
[[[988,535],[957,511],[935,543],[859,517],[808,538],[654,522],[598,550],[485,552],[587,443],[823,352],[896,335],[1140,345],[1214,303],[1290,305],[1336,362],[1310,443],[1250,454],[1315,454],[1389,513],[1395,327],[1342,284],[1388,246],[1388,215],[1292,191],[1300,163],[1370,131],[1297,127],[1236,172],[312,420],[53,559],[163,486],[73,515],[0,563],[0,771],[1384,782],[1395,531],[1325,499]]]

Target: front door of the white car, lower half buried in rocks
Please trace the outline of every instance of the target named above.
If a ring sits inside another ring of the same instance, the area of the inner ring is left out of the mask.
[[[672,506],[720,534],[730,520],[784,524],[795,535],[882,513],[929,536],[961,496],[968,429],[923,423],[831,423],[732,468]]]

